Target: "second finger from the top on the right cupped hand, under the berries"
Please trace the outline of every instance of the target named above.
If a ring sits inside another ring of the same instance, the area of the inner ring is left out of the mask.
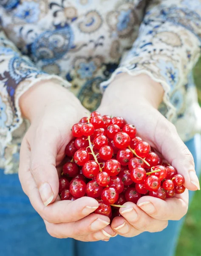
[[[136,204],[127,202],[126,208],[119,209],[120,214],[128,221],[130,225],[138,230],[148,232],[159,232],[167,227],[168,221],[161,221],[150,217]]]

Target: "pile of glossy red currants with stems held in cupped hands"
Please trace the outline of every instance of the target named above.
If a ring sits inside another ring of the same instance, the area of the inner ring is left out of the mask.
[[[96,213],[114,217],[125,202],[144,195],[165,199],[184,192],[184,177],[136,136],[122,117],[94,111],[73,125],[73,140],[59,179],[61,200],[96,198]]]

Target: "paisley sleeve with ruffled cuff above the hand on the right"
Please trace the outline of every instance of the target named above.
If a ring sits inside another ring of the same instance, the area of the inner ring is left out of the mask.
[[[165,116],[175,108],[170,95],[184,84],[201,51],[201,0],[150,0],[139,36],[102,91],[122,72],[146,73],[164,88]]]

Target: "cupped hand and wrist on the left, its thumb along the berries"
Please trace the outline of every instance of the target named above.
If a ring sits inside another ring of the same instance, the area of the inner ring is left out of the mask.
[[[20,108],[31,121],[20,150],[20,182],[48,233],[80,241],[110,239],[116,232],[108,217],[92,213],[98,208],[95,199],[61,201],[58,195],[59,165],[71,140],[71,127],[87,110],[72,93],[51,81],[29,89],[20,98]]]

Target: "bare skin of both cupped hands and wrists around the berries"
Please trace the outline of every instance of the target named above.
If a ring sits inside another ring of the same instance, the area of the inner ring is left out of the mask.
[[[174,125],[157,110],[163,93],[161,85],[146,75],[120,74],[106,89],[98,111],[102,115],[123,116],[128,123],[135,124],[139,136],[184,176],[184,186],[197,190],[199,181],[193,157]],[[145,231],[161,231],[168,220],[178,220],[186,214],[187,189],[184,194],[165,201],[144,196],[137,205],[127,202],[126,208],[119,210],[122,217],[114,218],[111,226],[108,217],[89,215],[98,207],[93,198],[60,201],[58,175],[65,145],[71,140],[71,126],[86,116],[87,110],[72,93],[52,81],[38,83],[24,93],[20,108],[31,121],[21,145],[20,182],[51,236],[108,241],[116,234],[132,237]]]

